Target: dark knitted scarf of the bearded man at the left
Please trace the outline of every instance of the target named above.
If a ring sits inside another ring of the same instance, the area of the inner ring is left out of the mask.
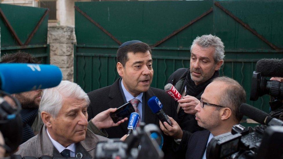
[[[23,121],[23,136],[21,141],[23,143],[35,136],[31,126],[37,117],[38,109],[22,109],[20,114]]]

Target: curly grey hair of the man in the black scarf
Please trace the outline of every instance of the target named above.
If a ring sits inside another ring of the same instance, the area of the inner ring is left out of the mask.
[[[193,46],[197,44],[200,47],[208,48],[208,47],[213,47],[215,52],[213,55],[213,59],[215,63],[218,63],[219,61],[224,59],[224,44],[221,41],[221,39],[217,36],[213,36],[211,34],[209,35],[202,35],[202,36],[197,36],[195,40],[193,41],[193,44],[191,46],[191,53]]]

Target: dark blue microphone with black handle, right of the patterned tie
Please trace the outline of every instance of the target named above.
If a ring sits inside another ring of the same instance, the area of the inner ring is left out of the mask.
[[[159,118],[159,120],[163,123],[166,122],[168,123],[170,126],[172,126],[172,123],[170,121],[170,119],[168,118],[168,116],[164,113],[162,107],[163,105],[161,104],[161,102],[159,101],[159,99],[156,96],[151,97],[148,102],[147,102],[148,106],[150,107],[151,111],[157,115],[157,117]]]

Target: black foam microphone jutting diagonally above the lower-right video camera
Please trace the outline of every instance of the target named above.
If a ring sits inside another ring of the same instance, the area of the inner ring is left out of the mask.
[[[263,112],[262,110],[257,109],[246,103],[241,104],[240,113],[244,114],[245,116],[248,116],[249,118],[255,120],[257,123],[263,125],[283,125],[283,121],[278,120],[276,118],[272,118],[266,112]]]

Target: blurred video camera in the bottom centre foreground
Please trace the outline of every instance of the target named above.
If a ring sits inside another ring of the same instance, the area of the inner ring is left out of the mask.
[[[152,134],[157,134],[153,139]],[[97,143],[95,158],[97,159],[144,159],[164,157],[160,145],[162,138],[159,128],[154,124],[145,125],[141,122],[125,142],[119,140],[102,141]],[[139,150],[140,149],[140,150]]]

